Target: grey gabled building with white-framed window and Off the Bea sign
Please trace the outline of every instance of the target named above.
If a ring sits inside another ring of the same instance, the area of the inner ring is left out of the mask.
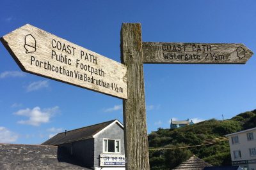
[[[65,131],[42,143],[59,146],[92,169],[125,169],[124,126],[111,120]]]

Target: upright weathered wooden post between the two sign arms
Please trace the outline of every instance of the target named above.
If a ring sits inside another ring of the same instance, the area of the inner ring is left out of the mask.
[[[127,170],[147,170],[148,138],[140,24],[122,24],[121,60],[127,66],[128,97],[123,100]]]

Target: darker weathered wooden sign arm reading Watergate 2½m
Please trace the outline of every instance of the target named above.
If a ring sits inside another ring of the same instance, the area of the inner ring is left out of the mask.
[[[143,42],[143,62],[149,64],[245,64],[252,55],[243,44]]]

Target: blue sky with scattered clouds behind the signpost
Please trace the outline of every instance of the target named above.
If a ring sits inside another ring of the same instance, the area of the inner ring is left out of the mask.
[[[0,36],[31,24],[120,62],[123,22],[143,41],[243,43],[256,52],[256,1],[0,1]],[[231,118],[256,108],[256,58],[244,65],[144,64],[148,132],[170,119]],[[108,120],[122,100],[24,73],[0,44],[0,143],[38,144]]]

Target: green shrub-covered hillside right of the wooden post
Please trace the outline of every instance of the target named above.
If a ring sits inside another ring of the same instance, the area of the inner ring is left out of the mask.
[[[161,129],[148,135],[149,148],[174,148],[201,145],[205,139],[220,138],[225,134],[256,127],[256,110],[241,113],[229,120],[206,120],[179,129]],[[215,145],[150,150],[150,169],[172,169],[195,154],[214,166],[231,165],[228,141]]]

